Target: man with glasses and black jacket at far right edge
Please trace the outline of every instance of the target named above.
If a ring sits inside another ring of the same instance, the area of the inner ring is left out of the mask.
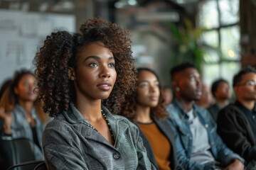
[[[246,67],[235,74],[233,89],[236,101],[220,110],[218,133],[245,159],[247,169],[256,169],[256,70]]]

